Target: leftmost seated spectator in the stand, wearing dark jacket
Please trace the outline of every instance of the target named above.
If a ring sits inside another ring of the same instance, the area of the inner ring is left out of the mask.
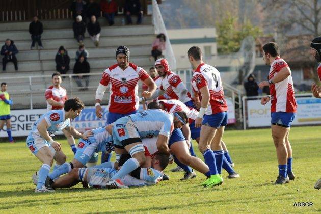
[[[14,45],[14,42],[11,39],[7,39],[5,42],[5,45],[1,48],[1,55],[4,55],[4,58],[2,58],[2,70],[6,70],[6,64],[8,62],[13,62],[14,69],[18,70],[18,61],[16,58],[16,54],[18,53],[17,47]]]

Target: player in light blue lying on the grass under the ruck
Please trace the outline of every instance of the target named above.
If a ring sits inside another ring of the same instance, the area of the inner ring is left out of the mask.
[[[169,159],[167,155],[156,154],[153,158],[145,149],[146,168],[137,168],[129,175],[125,175],[120,179],[123,188],[134,186],[154,185],[162,179],[162,171],[168,165]],[[130,159],[129,154],[121,155],[119,166]],[[149,166],[147,166],[149,165]],[[142,173],[143,171],[143,173]],[[52,188],[69,188],[83,181],[94,188],[117,188],[117,186],[106,186],[107,182],[117,173],[113,162],[102,163],[101,165],[92,168],[74,168],[68,174],[53,181]]]

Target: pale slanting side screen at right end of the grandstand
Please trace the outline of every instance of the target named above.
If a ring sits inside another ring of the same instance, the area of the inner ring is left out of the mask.
[[[171,45],[171,42],[169,40],[166,27],[164,24],[164,20],[161,14],[161,11],[159,10],[158,4],[156,0],[152,0],[152,8],[153,8],[153,14],[152,14],[152,20],[153,25],[155,29],[155,34],[165,34],[166,36],[166,49],[164,52],[164,56],[167,59],[169,63],[169,67],[171,70],[176,70],[176,59],[174,55],[174,51]]]

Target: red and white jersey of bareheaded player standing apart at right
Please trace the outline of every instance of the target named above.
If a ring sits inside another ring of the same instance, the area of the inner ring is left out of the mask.
[[[277,57],[271,64],[269,80],[278,75],[278,72],[284,67],[289,66],[283,59]],[[279,83],[271,84],[270,94],[271,112],[297,112],[297,103],[294,96],[294,87],[291,75]]]

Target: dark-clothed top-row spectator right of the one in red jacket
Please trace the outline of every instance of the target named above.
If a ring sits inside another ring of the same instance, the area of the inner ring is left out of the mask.
[[[142,23],[143,11],[139,0],[126,0],[124,10],[127,24],[132,24],[131,15],[137,15],[137,24]]]

